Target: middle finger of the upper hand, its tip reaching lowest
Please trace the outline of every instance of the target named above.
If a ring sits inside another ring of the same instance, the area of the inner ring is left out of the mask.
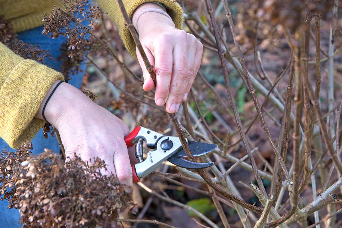
[[[173,68],[171,75],[171,83],[169,90],[169,97],[166,102],[166,110],[169,113],[177,112],[183,100],[186,85],[189,83],[192,72],[188,71],[188,47],[187,47],[187,33],[181,30],[180,40],[173,48]],[[185,42],[184,42],[185,41]]]

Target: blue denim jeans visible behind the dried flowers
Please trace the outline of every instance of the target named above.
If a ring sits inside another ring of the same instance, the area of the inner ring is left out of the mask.
[[[86,20],[84,20],[86,22]],[[60,36],[56,39],[50,38],[50,36],[46,36],[41,34],[43,30],[43,26],[26,30],[18,33],[18,39],[23,40],[25,43],[30,43],[33,45],[39,45],[41,49],[49,50],[49,53],[52,55],[52,58],[55,61],[50,61],[49,59],[44,60],[44,64],[54,68],[57,71],[61,70],[62,62],[57,61],[58,56],[61,55],[61,45],[65,41],[67,41],[66,37]],[[86,65],[81,65],[81,69],[84,71],[86,69]],[[74,85],[77,88],[81,87],[82,79],[84,72],[79,72],[71,77],[69,83]],[[59,153],[60,146],[58,145],[56,137],[52,137],[49,134],[49,138],[44,138],[43,130],[41,129],[36,136],[31,141],[33,144],[33,154],[38,154],[44,151],[44,148],[52,149],[52,151]],[[2,138],[0,138],[0,150],[11,148]],[[11,150],[11,149],[10,149]],[[12,149],[13,151],[14,149]],[[19,224],[20,214],[17,209],[8,209],[8,202],[6,200],[0,201],[0,227],[1,228],[16,228],[21,227]]]

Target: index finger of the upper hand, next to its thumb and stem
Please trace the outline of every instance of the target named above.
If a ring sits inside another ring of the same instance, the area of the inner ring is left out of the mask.
[[[173,46],[169,45],[171,42],[163,41],[165,39],[161,39],[162,44],[157,45],[154,52],[157,76],[155,102],[158,106],[164,105],[169,96],[173,62]]]

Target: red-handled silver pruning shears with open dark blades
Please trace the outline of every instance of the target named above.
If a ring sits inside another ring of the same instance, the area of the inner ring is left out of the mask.
[[[143,157],[143,141],[146,142],[147,148],[153,149],[147,152],[145,160]],[[185,160],[183,157],[187,156],[179,137],[164,136],[142,126],[136,127],[127,135],[125,142],[127,147],[135,144],[135,157],[139,162],[132,165],[133,183],[140,182],[141,177],[152,173],[166,160],[186,169],[204,169],[214,164],[214,162],[197,163]],[[195,142],[187,139],[186,142],[194,157],[209,153],[217,147],[216,144]]]

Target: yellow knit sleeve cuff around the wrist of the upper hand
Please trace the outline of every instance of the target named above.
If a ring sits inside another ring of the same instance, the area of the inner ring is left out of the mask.
[[[129,17],[132,16],[134,10],[145,2],[152,2],[153,0],[123,0],[123,4],[126,8]],[[97,0],[98,4],[108,13],[108,16],[119,28],[120,37],[126,46],[128,52],[136,58],[135,43],[125,26],[124,18],[121,14],[119,5],[116,0]],[[183,10],[181,6],[175,0],[158,0],[166,6],[167,13],[171,16],[176,28],[181,29],[183,23]]]

